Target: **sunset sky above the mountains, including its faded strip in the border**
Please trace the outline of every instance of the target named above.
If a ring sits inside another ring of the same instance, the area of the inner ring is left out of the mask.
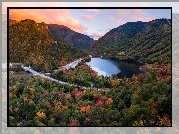
[[[172,5],[173,4],[173,5]],[[65,25],[70,29],[97,40],[109,30],[126,22],[171,19],[169,9],[99,9],[98,7],[173,7],[175,3],[159,2],[3,2],[2,14],[7,7],[96,7],[96,9],[10,9],[9,17],[17,21],[33,19],[37,23]],[[176,6],[173,12],[179,12]]]

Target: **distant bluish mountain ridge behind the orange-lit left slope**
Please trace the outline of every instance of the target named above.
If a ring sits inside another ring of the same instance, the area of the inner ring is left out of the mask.
[[[66,26],[58,24],[47,24],[47,26],[49,33],[55,38],[73,45],[78,49],[85,49],[94,42],[94,39],[89,36],[77,33]]]

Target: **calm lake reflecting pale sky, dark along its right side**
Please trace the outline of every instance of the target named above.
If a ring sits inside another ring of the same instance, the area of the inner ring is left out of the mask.
[[[117,75],[118,78],[124,78],[125,76],[130,78],[133,74],[142,73],[139,66],[127,63],[123,61],[115,61],[102,58],[91,58],[90,62],[86,62],[91,68],[98,73],[98,75],[111,76]]]

